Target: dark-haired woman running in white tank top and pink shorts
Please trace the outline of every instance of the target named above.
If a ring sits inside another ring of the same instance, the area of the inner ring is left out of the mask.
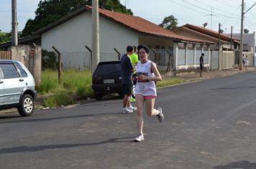
[[[156,64],[151,62],[147,57],[150,50],[142,45],[138,47],[140,61],[137,64],[137,84],[135,89],[137,105],[137,125],[139,130],[138,137],[134,141],[141,142],[144,140],[143,135],[143,107],[144,103],[147,108],[147,115],[156,116],[159,122],[163,122],[164,115],[161,107],[155,109],[155,98],[157,91],[155,81],[161,81],[162,77],[157,70]]]

